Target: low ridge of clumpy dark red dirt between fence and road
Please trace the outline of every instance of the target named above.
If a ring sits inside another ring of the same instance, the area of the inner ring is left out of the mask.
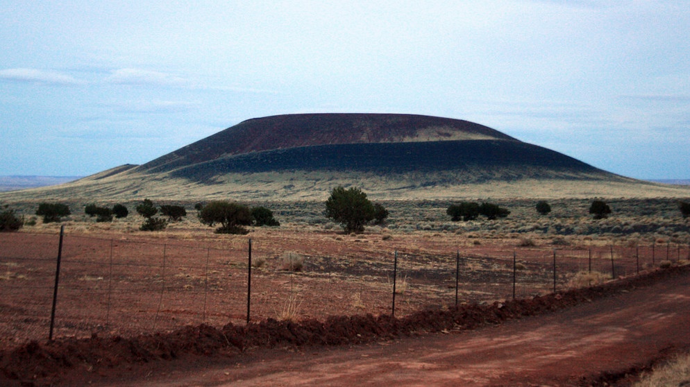
[[[170,333],[132,338],[65,338],[38,343],[31,341],[0,352],[0,384],[40,386],[60,384],[67,373],[92,372],[99,368],[122,368],[132,364],[178,359],[186,355],[233,356],[252,347],[344,345],[412,336],[424,332],[474,329],[505,320],[535,316],[580,302],[591,302],[668,277],[687,273],[690,266],[657,270],[620,279],[602,286],[565,291],[525,300],[491,305],[463,304],[457,308],[428,308],[403,318],[392,316],[333,316],[324,321],[265,320],[250,325],[228,324],[221,329],[190,326]]]

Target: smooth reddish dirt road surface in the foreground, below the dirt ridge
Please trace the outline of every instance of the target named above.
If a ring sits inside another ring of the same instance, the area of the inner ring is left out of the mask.
[[[605,372],[690,348],[690,275],[683,273],[498,327],[355,347],[255,350],[239,363],[178,364],[139,380],[149,386],[588,385]]]

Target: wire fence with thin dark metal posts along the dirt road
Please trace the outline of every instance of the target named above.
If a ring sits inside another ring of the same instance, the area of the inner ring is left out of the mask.
[[[128,336],[267,318],[404,316],[421,307],[588,286],[662,261],[690,259],[690,250],[668,244],[516,248],[494,256],[464,249],[305,257],[278,256],[262,241],[246,238],[210,248],[67,234],[56,287],[57,256],[58,236],[0,234],[0,345],[47,338],[53,300],[56,337]]]

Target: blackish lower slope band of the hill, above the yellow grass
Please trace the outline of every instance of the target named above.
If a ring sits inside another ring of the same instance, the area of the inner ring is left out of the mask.
[[[549,178],[605,174],[589,164],[521,141],[426,141],[386,144],[302,146],[233,155],[181,167],[177,178],[212,183],[219,173],[352,171],[395,173],[469,173],[473,180]],[[487,171],[491,171],[487,173]],[[544,175],[545,171],[548,175]],[[501,176],[499,178],[499,176]]]

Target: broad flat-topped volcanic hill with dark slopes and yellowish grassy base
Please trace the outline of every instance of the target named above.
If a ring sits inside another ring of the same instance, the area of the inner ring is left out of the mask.
[[[690,196],[687,187],[615,175],[478,123],[412,114],[249,119],[140,166],[17,195],[321,200],[338,185],[387,199]]]

